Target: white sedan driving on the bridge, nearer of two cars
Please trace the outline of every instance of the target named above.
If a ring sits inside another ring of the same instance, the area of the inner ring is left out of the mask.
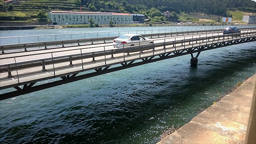
[[[115,48],[123,48],[128,46],[139,46],[143,44],[152,44],[153,41],[137,34],[124,34],[114,39],[113,46]]]

